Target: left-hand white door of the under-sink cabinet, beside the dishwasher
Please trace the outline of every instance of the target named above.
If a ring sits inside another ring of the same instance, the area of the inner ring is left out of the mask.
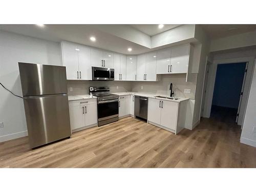
[[[148,99],[148,113],[147,120],[160,124],[161,120],[161,100],[159,99]]]

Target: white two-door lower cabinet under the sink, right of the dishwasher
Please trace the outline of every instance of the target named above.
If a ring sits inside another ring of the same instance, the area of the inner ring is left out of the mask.
[[[148,121],[177,133],[179,103],[160,99],[148,99]]]

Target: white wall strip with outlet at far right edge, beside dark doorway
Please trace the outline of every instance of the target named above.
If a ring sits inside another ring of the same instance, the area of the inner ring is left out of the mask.
[[[256,60],[254,61],[256,62]],[[256,147],[256,133],[253,133],[253,127],[256,127],[256,68],[254,67],[253,77],[249,92],[249,99],[245,112],[241,143]]]

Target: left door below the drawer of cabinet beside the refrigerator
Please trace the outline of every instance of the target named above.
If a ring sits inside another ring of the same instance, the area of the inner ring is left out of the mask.
[[[70,125],[72,130],[86,126],[84,113],[83,105],[70,106]]]

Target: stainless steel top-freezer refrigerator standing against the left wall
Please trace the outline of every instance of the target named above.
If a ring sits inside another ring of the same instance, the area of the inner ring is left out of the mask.
[[[66,67],[18,63],[31,148],[71,136]]]

